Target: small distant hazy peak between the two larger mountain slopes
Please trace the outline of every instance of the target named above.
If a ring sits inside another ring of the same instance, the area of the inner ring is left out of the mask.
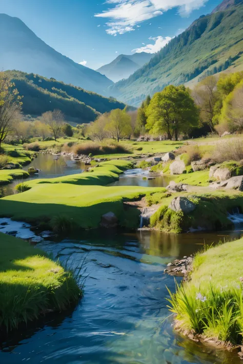
[[[116,82],[123,78],[128,78],[141,66],[144,66],[152,56],[152,54],[145,52],[131,55],[120,54],[108,65],[102,66],[96,71]]]

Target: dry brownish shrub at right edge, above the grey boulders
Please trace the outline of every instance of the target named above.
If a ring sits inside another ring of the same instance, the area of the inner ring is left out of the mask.
[[[243,160],[243,140],[235,139],[234,141],[218,143],[211,158],[219,163]]]

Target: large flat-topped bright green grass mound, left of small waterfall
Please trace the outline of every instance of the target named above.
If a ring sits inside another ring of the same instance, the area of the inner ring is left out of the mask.
[[[139,199],[148,192],[161,190],[164,189],[39,183],[22,194],[0,199],[0,215],[30,223],[50,222],[54,217],[62,216],[73,228],[94,228],[99,226],[102,215],[112,211],[123,225],[126,219],[124,201]],[[138,221],[135,224],[137,227]]]

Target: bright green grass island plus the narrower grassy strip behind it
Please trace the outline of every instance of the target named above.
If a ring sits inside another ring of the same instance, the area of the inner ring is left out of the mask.
[[[105,186],[132,166],[128,161],[107,161],[93,172],[28,181],[29,190],[0,199],[0,215],[63,232],[96,228],[103,215],[113,212],[120,226],[137,228],[140,211],[124,203],[165,188]]]

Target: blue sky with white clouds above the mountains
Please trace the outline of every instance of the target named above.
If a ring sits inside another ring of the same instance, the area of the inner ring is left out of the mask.
[[[49,46],[97,69],[118,54],[155,52],[220,0],[0,0]],[[145,47],[145,48],[143,48]]]

